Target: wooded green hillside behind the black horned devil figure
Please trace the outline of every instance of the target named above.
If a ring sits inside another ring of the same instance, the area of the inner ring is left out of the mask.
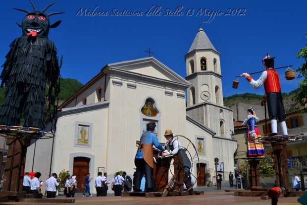
[[[71,78],[61,78],[60,81],[60,89],[61,92],[58,96],[59,105],[67,100],[70,96],[72,96],[75,92],[77,92],[83,84],[76,79]],[[5,87],[0,87],[0,105],[2,105],[2,101],[5,95]]]

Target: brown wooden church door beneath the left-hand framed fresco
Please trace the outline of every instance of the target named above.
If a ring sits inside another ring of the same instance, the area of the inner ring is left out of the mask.
[[[76,190],[76,192],[83,192],[85,177],[90,171],[90,161],[91,159],[88,157],[74,157],[74,166],[72,174],[76,175],[76,179],[78,182],[78,190]]]

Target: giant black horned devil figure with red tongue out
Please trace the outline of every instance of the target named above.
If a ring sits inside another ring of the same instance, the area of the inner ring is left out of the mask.
[[[10,44],[3,70],[0,75],[1,86],[7,90],[0,110],[0,125],[19,126],[23,119],[24,127],[43,129],[45,121],[45,89],[48,89],[47,102],[49,110],[55,105],[55,97],[59,94],[60,67],[54,43],[49,40],[50,28],[57,27],[61,21],[50,25],[51,15],[63,12],[36,9],[34,11],[14,8],[23,11],[26,16],[19,24],[22,36]]]

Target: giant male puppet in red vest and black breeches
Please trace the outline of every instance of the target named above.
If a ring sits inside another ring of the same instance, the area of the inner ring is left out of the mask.
[[[281,122],[282,134],[287,136],[288,131],[285,121],[285,108],[282,102],[279,75],[274,69],[274,59],[275,57],[271,58],[269,54],[262,59],[262,64],[265,67],[265,70],[257,80],[254,80],[252,76],[246,72],[242,73],[241,75],[246,77],[246,79],[255,89],[260,87],[262,84],[264,85],[268,113],[269,117],[271,118],[272,133],[270,136],[277,135],[277,119],[279,122]]]

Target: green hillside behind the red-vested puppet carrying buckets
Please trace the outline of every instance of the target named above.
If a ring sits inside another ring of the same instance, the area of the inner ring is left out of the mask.
[[[283,103],[285,106],[286,112],[293,111],[296,109],[301,109],[303,106],[296,100],[296,95],[299,91],[295,89],[289,93],[282,93]],[[254,93],[244,93],[244,94],[236,94],[229,97],[224,97],[224,105],[227,107],[231,107],[236,103],[248,103],[251,105],[261,105],[261,101],[264,95],[257,95]]]

